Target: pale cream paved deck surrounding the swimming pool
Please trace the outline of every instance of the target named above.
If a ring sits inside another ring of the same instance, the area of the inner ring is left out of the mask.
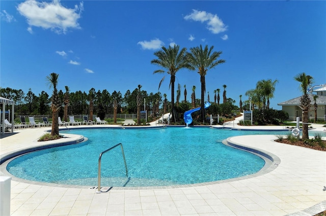
[[[325,129],[314,127],[322,133]],[[30,128],[15,130],[11,136],[6,134],[0,139],[1,158],[17,150],[43,145],[37,139],[49,129]],[[73,135],[65,141],[78,139],[79,136]],[[196,186],[113,188],[97,194],[95,189],[53,186],[13,177],[11,215],[314,215],[326,210],[326,191],[323,191],[326,152],[278,143],[275,139],[275,135],[228,139],[277,156],[280,163],[272,163],[276,167],[272,171]],[[1,175],[3,169],[2,166]]]

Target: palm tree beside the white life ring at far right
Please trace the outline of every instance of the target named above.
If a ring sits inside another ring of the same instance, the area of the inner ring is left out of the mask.
[[[303,96],[300,98],[301,105],[299,106],[302,110],[302,139],[309,139],[308,134],[308,118],[311,100],[307,94],[308,87],[313,83],[313,77],[306,75],[305,73],[298,74],[294,77],[295,81],[300,82],[300,89],[303,92]]]

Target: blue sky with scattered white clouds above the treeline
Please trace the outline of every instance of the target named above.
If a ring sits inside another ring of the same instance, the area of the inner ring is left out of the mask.
[[[278,79],[271,107],[301,95],[293,77],[305,72],[326,83],[326,1],[0,1],[0,86],[51,94],[58,89],[107,89],[122,95],[141,84],[167,94],[170,77],[153,74],[154,52],[177,44],[222,51],[225,64],[207,72],[206,98],[227,85],[239,103],[262,79]],[[177,84],[200,97],[200,76],[181,70]],[[183,98],[181,96],[181,98]]]

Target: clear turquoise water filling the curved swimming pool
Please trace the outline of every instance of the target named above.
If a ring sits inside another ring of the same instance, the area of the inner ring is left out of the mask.
[[[42,182],[96,186],[99,154],[101,185],[113,187],[171,186],[223,180],[258,172],[264,160],[252,153],[222,144],[222,140],[248,134],[289,132],[231,131],[211,128],[83,129],[87,142],[34,151],[11,161],[14,176]]]

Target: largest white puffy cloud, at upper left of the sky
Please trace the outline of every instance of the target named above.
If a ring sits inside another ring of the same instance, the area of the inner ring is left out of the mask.
[[[51,29],[57,34],[66,34],[69,28],[79,29],[77,20],[84,10],[83,2],[75,5],[74,9],[68,9],[60,4],[60,1],[37,2],[36,0],[26,0],[17,7],[19,13],[27,19],[29,32],[32,26]]]

